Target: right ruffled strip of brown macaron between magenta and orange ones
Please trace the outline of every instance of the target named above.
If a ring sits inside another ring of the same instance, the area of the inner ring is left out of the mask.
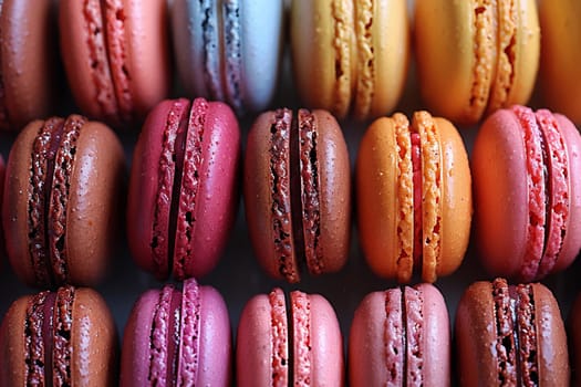
[[[295,192],[297,195],[293,194],[292,197],[301,198],[301,207],[293,207],[292,212],[302,215],[302,221],[297,221],[295,223],[298,224],[294,226],[298,229],[295,234],[300,233],[300,229],[302,229],[303,241],[298,241],[299,243],[295,244],[297,255],[304,257],[307,266],[312,274],[321,274],[324,271],[324,262],[322,257],[323,251],[319,244],[319,238],[321,236],[321,203],[319,199],[320,180],[317,157],[317,119],[314,115],[307,109],[300,109],[298,118],[300,195]],[[292,166],[293,164],[291,164],[291,167]],[[293,170],[295,168],[293,168]],[[293,205],[297,206],[294,202]],[[302,210],[299,210],[299,208]]]

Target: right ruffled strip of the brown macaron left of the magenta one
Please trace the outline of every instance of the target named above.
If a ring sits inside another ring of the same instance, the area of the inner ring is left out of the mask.
[[[69,281],[68,257],[66,257],[66,212],[69,196],[71,191],[71,177],[73,175],[74,159],[76,155],[76,142],[81,134],[81,127],[85,124],[85,118],[71,115],[64,123],[62,138],[58,145],[54,164],[49,166],[49,179],[51,191],[46,192],[50,198],[50,209],[48,216],[49,232],[49,253],[52,262],[52,271],[56,284]],[[59,137],[55,136],[55,137]],[[54,143],[52,144],[54,146]],[[50,161],[49,161],[50,163]],[[51,171],[52,167],[52,171]]]

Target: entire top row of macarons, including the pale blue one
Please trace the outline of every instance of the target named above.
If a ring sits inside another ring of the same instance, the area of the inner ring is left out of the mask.
[[[287,35],[302,105],[340,119],[391,114],[413,46],[426,107],[455,124],[527,104],[539,66],[544,104],[581,123],[579,1],[417,0],[413,11],[406,0],[288,3],[6,0],[0,124],[18,130],[55,114],[58,56],[80,111],[115,127],[170,97],[174,59],[179,93],[261,112],[278,90]]]

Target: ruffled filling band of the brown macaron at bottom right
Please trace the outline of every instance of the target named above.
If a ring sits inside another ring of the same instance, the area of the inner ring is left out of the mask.
[[[506,280],[492,282],[500,385],[537,386],[539,368],[535,297],[530,284],[509,286]]]

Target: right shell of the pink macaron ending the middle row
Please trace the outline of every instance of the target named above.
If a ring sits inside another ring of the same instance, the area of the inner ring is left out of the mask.
[[[567,232],[562,241],[561,252],[557,260],[553,272],[564,270],[575,259],[581,249],[581,135],[577,127],[561,114],[554,114],[554,118],[564,137],[569,158],[569,218],[566,224]]]

